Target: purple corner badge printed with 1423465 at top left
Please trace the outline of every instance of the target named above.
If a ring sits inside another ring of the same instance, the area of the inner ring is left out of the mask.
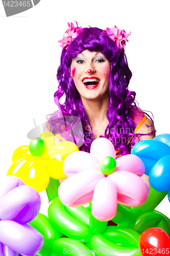
[[[25,12],[36,6],[41,0],[18,0],[8,1],[2,0],[6,16],[12,16],[21,12]]]

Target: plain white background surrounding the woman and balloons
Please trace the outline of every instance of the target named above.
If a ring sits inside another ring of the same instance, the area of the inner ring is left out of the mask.
[[[0,2],[1,172],[5,177],[18,146],[29,145],[27,133],[56,110],[57,42],[76,20],[82,27],[131,31],[126,55],[142,110],[154,114],[157,135],[169,133],[169,1],[41,0],[34,8],[6,17]],[[41,212],[47,212],[45,193]],[[158,206],[170,218],[167,197]]]

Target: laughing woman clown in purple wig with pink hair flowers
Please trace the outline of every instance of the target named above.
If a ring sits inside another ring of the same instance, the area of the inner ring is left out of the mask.
[[[89,152],[92,141],[104,137],[113,143],[116,157],[130,154],[137,141],[155,137],[152,119],[137,108],[136,93],[128,90],[132,73],[125,44],[130,34],[116,27],[102,30],[76,25],[68,23],[59,41],[63,50],[54,94],[59,111],[47,116],[44,130],[55,134],[56,143],[70,140],[64,117],[76,116],[82,131],[75,130],[73,142],[82,142],[80,151]],[[76,129],[77,124],[73,118],[69,128]],[[149,183],[148,176],[142,178]]]

